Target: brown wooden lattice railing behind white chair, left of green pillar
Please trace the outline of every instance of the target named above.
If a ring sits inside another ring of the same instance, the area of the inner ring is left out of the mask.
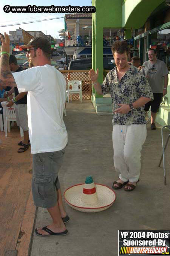
[[[66,83],[71,80],[82,81],[82,99],[91,99],[92,84],[88,74],[89,70],[60,70],[65,77]],[[79,100],[78,94],[73,94],[73,100]]]

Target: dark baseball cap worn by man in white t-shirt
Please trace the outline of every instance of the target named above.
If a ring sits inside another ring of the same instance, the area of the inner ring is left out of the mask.
[[[46,53],[51,54],[51,43],[45,37],[36,36],[33,39],[31,39],[27,45],[20,45],[20,48],[22,48],[23,50],[29,49],[31,47],[40,48]]]

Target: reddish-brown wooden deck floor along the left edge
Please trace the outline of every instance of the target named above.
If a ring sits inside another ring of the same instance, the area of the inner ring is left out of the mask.
[[[14,126],[8,137],[0,132],[0,255],[16,250],[23,216],[31,189],[32,156],[30,148],[17,153],[22,140]]]

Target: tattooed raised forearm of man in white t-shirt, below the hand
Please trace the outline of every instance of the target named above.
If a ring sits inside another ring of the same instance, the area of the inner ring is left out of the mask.
[[[9,68],[9,56],[7,54],[2,54],[0,57],[0,85],[17,87]]]

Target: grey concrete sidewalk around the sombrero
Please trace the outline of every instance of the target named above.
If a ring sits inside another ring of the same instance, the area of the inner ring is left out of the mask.
[[[113,166],[112,116],[97,116],[90,101],[67,104],[64,117],[69,145],[59,179],[62,192],[85,182],[92,175],[94,182],[111,188],[117,174]],[[165,132],[166,136],[169,132]],[[109,209],[99,213],[82,213],[65,203],[70,222],[63,237],[34,235],[31,256],[117,256],[118,230],[169,230],[170,212],[170,143],[166,149],[167,185],[163,167],[158,167],[162,154],[161,127],[153,131],[148,125],[147,140],[142,149],[140,182],[133,192],[117,190]],[[46,209],[39,208],[35,227],[51,223]],[[34,228],[35,228],[34,227]]]

